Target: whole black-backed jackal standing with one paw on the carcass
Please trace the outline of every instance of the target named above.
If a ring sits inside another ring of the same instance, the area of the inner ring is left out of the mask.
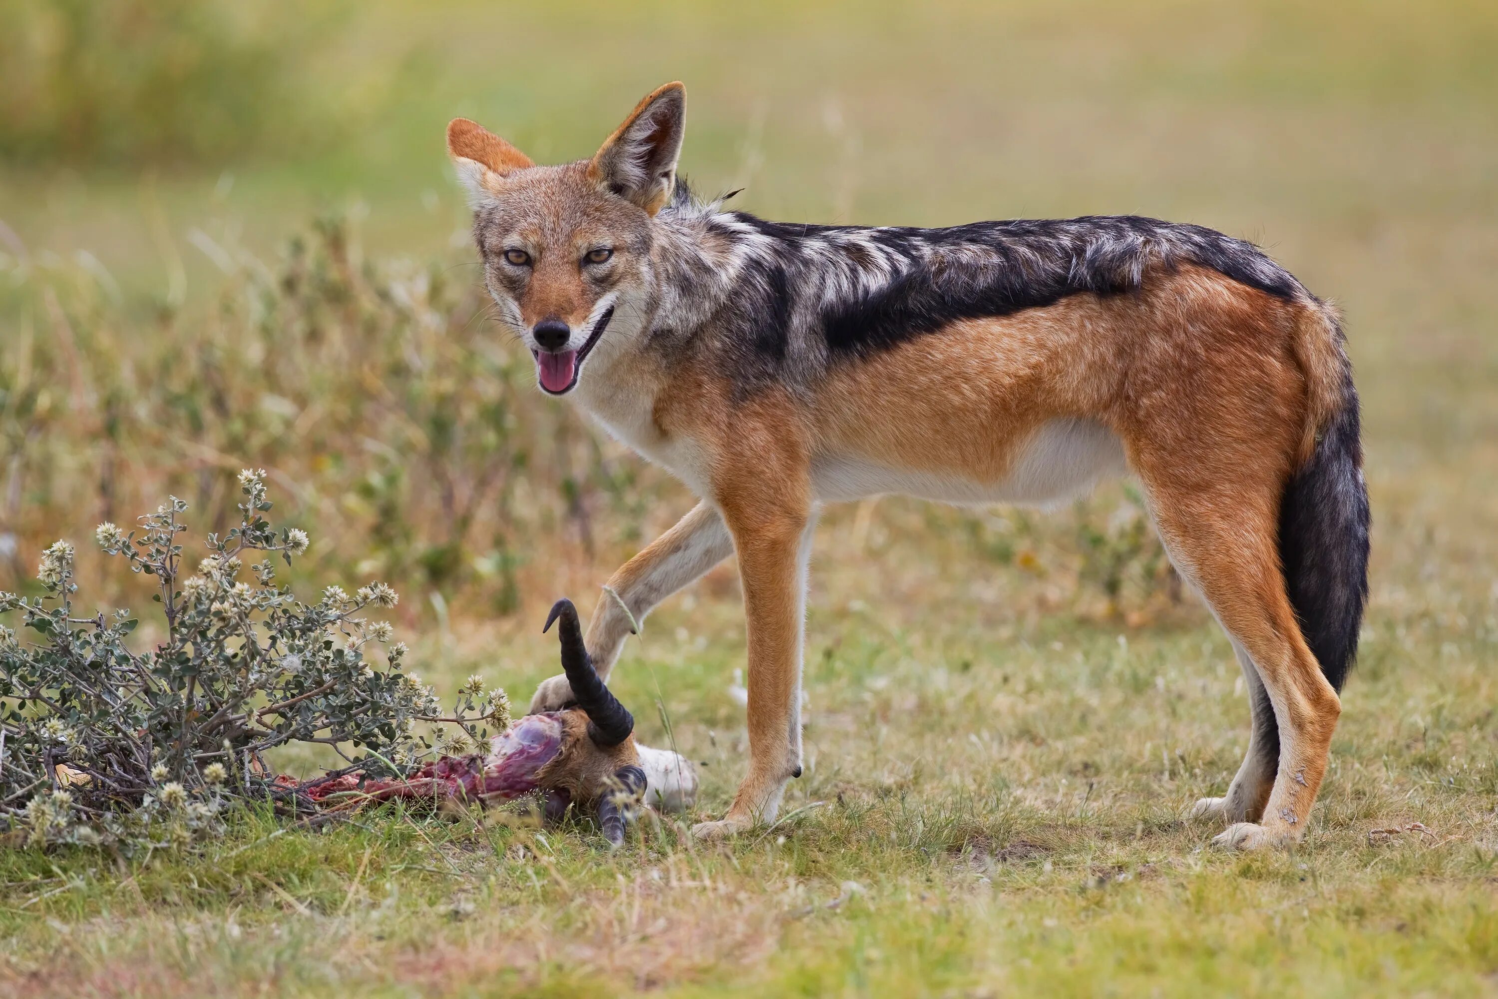
[[[1366,595],[1357,395],[1332,309],[1255,247],[1138,217],[951,229],[765,222],[677,181],[686,91],[590,160],[448,126],[499,315],[566,395],[701,502],[608,581],[607,677],[652,607],[737,554],[749,773],[722,836],[801,773],[801,620],[824,503],[1053,502],[1132,472],[1248,681],[1248,755],[1197,815],[1300,837]],[[620,602],[628,605],[626,614]],[[532,711],[571,699],[541,684]]]

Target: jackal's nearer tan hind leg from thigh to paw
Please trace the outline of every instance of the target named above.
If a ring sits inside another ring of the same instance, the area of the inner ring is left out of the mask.
[[[1134,338],[1113,418],[1171,557],[1252,658],[1279,722],[1279,774],[1263,815],[1248,816],[1263,824],[1233,827],[1230,842],[1294,840],[1341,713],[1278,551],[1284,482],[1317,425],[1300,368],[1309,307],[1200,273],[1167,285],[1141,303],[1153,335]]]

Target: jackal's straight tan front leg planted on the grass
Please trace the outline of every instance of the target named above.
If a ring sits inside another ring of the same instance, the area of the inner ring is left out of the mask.
[[[749,626],[749,773],[724,819],[692,828],[703,839],[773,822],[785,782],[801,776],[801,623],[815,517],[807,509],[725,517]]]

